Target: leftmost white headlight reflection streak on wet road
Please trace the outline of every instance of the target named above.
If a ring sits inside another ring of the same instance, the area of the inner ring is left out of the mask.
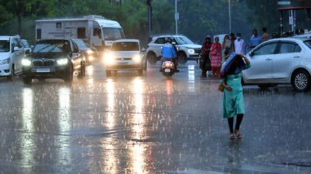
[[[23,89],[22,110],[22,164],[31,165],[34,160],[33,90]],[[30,172],[30,171],[28,171]]]

